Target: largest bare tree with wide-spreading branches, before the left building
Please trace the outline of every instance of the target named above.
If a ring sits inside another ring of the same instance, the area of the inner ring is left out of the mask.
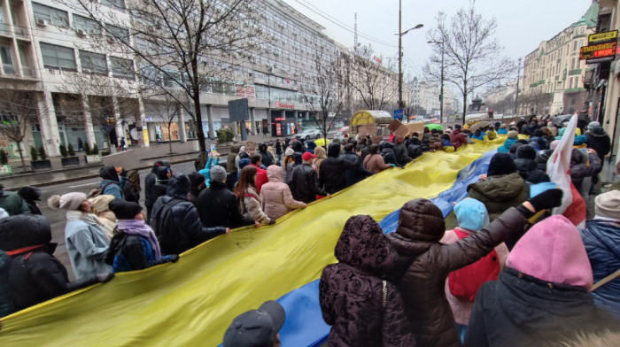
[[[258,0],[58,0],[84,14],[103,30],[93,35],[112,45],[120,54],[135,58],[143,81],[169,89],[180,89],[177,104],[198,124],[198,143],[205,150],[200,93],[213,83],[227,81],[234,69],[234,55],[257,51],[267,35],[257,24]],[[110,11],[122,8],[123,15]],[[236,81],[241,81],[236,76]],[[172,97],[176,97],[172,95]],[[213,134],[213,120],[209,119]]]

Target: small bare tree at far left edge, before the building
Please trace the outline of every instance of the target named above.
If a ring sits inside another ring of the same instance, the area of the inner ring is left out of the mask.
[[[34,92],[6,89],[0,93],[0,133],[17,143],[23,172],[27,169],[21,144],[30,126],[37,122],[42,113],[44,112],[39,110]]]

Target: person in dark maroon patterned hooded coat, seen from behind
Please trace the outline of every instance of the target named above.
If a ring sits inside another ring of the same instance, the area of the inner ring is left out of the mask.
[[[347,220],[334,253],[338,263],[326,266],[319,282],[329,346],[415,346],[399,289],[383,280],[399,255],[376,221]]]

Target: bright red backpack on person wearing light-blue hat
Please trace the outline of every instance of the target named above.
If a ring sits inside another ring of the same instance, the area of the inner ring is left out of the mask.
[[[459,239],[469,236],[458,228],[453,231]],[[484,282],[495,281],[499,275],[500,260],[497,252],[493,250],[476,263],[448,274],[448,288],[454,297],[473,302]]]

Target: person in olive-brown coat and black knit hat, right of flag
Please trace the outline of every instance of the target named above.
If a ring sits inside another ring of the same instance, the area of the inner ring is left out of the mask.
[[[486,206],[489,218],[495,220],[509,207],[523,203],[529,197],[528,186],[516,172],[515,161],[507,153],[496,153],[481,181],[467,188],[469,197]],[[514,243],[513,243],[514,244]],[[508,249],[510,249],[508,245]]]

